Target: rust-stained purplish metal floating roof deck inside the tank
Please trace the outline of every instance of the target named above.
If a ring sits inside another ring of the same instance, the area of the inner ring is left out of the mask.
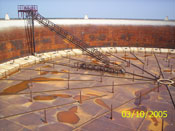
[[[159,81],[163,74],[174,82],[175,55],[155,53],[156,60],[151,52],[110,54],[111,61],[125,67],[125,74],[70,66],[78,60],[96,63],[78,55],[47,60],[4,77],[0,81],[0,129],[173,130],[175,85]],[[133,113],[133,118],[123,118],[123,111]],[[147,111],[167,111],[167,117],[137,117],[136,112]]]

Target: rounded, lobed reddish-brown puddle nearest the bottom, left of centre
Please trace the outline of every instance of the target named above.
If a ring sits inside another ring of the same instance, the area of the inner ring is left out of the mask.
[[[79,122],[80,118],[75,113],[77,113],[77,106],[70,108],[68,111],[57,113],[57,120],[69,124],[76,124]]]

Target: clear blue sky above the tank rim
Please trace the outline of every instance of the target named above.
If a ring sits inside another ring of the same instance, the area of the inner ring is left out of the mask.
[[[175,0],[0,0],[0,18],[17,18],[17,5],[38,5],[47,18],[175,20]]]

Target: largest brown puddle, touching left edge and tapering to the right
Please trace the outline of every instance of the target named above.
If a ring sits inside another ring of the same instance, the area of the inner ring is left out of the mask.
[[[27,81],[23,81],[19,84],[10,86],[6,89],[4,89],[0,95],[2,94],[14,94],[14,93],[18,93],[20,91],[23,91],[25,89],[28,88],[28,84],[33,81],[33,82],[48,82],[48,81],[59,81],[59,80],[63,80],[63,79],[55,79],[55,78],[46,78],[46,77],[37,77],[37,78],[33,78],[31,80],[27,80]]]

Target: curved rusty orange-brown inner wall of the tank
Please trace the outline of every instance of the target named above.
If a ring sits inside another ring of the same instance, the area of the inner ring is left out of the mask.
[[[130,46],[175,48],[175,26],[171,25],[60,25],[91,47]],[[75,48],[46,27],[35,27],[36,52]],[[24,26],[0,29],[0,63],[29,54]]]

